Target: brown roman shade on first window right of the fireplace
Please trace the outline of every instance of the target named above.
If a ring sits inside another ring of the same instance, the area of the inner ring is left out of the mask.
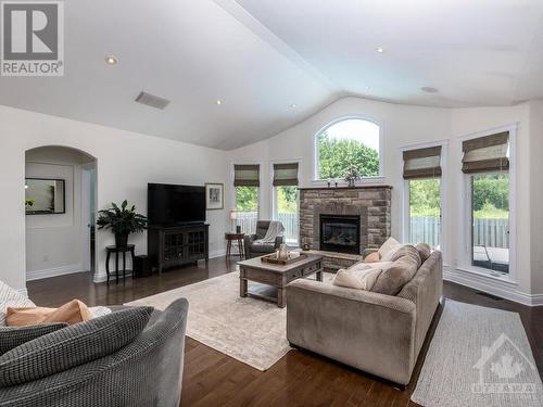
[[[441,145],[404,151],[404,179],[441,177]]]

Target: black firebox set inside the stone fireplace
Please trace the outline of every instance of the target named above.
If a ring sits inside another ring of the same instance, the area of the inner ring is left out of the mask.
[[[361,217],[320,214],[320,250],[361,254]]]

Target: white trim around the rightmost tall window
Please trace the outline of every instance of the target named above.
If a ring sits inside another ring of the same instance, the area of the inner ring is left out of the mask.
[[[460,219],[458,219],[458,264],[457,269],[487,278],[517,284],[517,180],[516,180],[516,143],[518,124],[509,124],[491,128],[483,131],[458,137],[457,156],[458,171],[460,177],[460,193],[458,193],[458,207],[460,208]],[[502,276],[495,271],[471,265],[471,182],[470,175],[462,173],[462,143],[479,137],[490,136],[502,131],[509,131],[509,272]]]

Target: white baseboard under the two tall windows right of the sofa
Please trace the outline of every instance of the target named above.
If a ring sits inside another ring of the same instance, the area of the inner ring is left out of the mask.
[[[515,284],[492,279],[490,277],[443,267],[443,280],[483,291],[522,305],[531,307],[543,305],[543,294],[527,294],[519,291]]]

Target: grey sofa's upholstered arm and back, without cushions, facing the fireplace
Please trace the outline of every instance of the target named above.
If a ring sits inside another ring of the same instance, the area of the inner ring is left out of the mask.
[[[433,252],[395,296],[295,280],[287,285],[287,338],[405,385],[442,295],[442,267]]]

